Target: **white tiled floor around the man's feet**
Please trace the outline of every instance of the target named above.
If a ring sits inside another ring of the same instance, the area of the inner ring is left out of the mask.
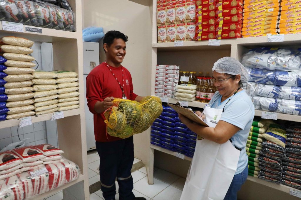
[[[134,160],[134,164],[139,162],[139,159]],[[88,153],[88,175],[89,185],[99,181],[99,156],[97,151]],[[179,200],[185,179],[178,177],[175,174],[169,173],[162,169],[154,168],[154,185],[148,185],[146,168],[140,168],[132,173],[134,181],[133,193],[136,197],[144,197],[147,200]],[[118,183],[116,181],[116,200],[119,200]],[[63,193],[59,192],[46,200],[63,199]],[[90,195],[91,200],[103,200],[101,190]]]

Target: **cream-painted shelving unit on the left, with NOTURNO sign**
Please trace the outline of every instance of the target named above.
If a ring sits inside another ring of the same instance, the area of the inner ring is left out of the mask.
[[[35,42],[51,42],[53,44],[54,70],[75,71],[79,78],[79,105],[80,108],[64,111],[64,118],[57,120],[58,146],[65,152],[64,157],[79,165],[79,178],[52,191],[38,195],[32,199],[43,199],[63,190],[65,200],[89,199],[88,162],[85,135],[84,111],[84,81],[83,81],[83,54],[82,54],[82,1],[69,0],[76,19],[76,32],[46,29],[34,26],[24,26],[24,32],[11,32],[2,29],[0,22],[0,37],[17,36],[28,38]],[[42,33],[26,32],[25,27],[42,29]],[[51,119],[50,114],[31,116],[32,122]],[[20,119],[0,122],[1,128],[17,126]]]

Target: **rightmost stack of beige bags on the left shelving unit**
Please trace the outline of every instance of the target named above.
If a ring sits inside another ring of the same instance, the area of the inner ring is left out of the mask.
[[[79,108],[79,83],[77,73],[73,71],[53,71],[57,74],[58,103],[57,111],[67,111]]]

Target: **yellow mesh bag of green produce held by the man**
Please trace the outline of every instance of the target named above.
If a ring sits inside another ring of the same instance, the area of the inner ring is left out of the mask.
[[[162,110],[161,100],[155,96],[144,97],[141,102],[115,98],[112,109],[104,113],[107,133],[123,139],[142,133]]]

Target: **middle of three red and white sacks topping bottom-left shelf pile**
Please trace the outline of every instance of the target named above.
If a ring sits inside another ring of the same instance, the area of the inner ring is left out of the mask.
[[[45,156],[34,146],[20,147],[12,150],[23,162],[33,162],[45,158]]]

